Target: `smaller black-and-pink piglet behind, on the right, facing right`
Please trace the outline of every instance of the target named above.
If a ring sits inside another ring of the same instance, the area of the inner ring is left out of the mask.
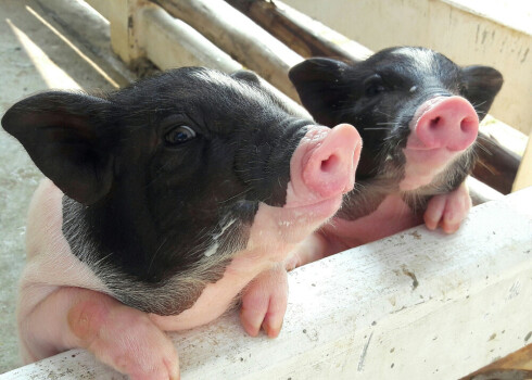
[[[366,61],[309,59],[290,71],[318,123],[352,123],[364,150],[355,189],[324,232],[329,253],[416,226],[454,232],[471,201],[479,121],[503,77],[460,67],[425,48],[382,50]]]

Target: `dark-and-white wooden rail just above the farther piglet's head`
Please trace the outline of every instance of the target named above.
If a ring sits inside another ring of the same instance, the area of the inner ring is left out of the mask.
[[[299,54],[360,61],[371,51],[280,1],[226,0]]]

